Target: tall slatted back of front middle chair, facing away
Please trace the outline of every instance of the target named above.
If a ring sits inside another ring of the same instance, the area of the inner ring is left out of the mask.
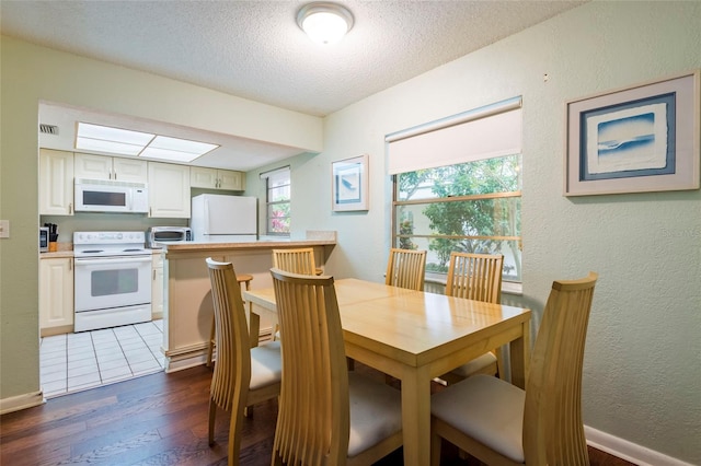
[[[333,278],[276,268],[271,273],[285,336],[274,458],[343,465],[350,423],[348,374]]]

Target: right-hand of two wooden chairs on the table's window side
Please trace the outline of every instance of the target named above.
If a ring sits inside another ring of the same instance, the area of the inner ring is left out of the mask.
[[[504,256],[501,254],[450,253],[446,295],[499,304],[502,302],[502,269]],[[501,349],[489,351],[479,358],[453,369],[439,378],[448,384],[475,374],[504,375]]]

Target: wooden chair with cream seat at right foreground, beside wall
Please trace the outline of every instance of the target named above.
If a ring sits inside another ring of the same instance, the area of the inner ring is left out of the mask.
[[[582,363],[597,275],[554,281],[526,389],[475,375],[432,396],[432,465],[441,438],[490,465],[589,465]]]

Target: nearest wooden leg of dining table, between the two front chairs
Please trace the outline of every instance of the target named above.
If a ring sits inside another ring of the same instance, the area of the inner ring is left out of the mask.
[[[430,459],[430,377],[428,368],[405,366],[402,383],[404,465],[427,466]]]

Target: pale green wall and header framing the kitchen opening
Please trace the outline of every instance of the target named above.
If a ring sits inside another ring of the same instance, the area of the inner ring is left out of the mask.
[[[320,151],[303,115],[1,37],[0,399],[38,392],[38,104],[41,100]],[[78,222],[78,221],[77,221]],[[73,222],[72,224],[79,224]],[[3,407],[4,408],[4,407]]]

